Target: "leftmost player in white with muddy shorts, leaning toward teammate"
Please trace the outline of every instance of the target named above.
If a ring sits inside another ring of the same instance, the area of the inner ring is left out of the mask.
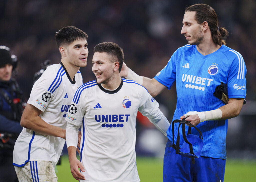
[[[35,82],[20,121],[13,152],[19,181],[57,181],[57,164],[66,139],[66,113],[87,65],[88,35],[73,27],[55,34],[61,62],[49,66]]]

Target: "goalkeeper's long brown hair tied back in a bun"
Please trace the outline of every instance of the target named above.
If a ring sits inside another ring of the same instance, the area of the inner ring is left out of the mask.
[[[201,24],[204,21],[208,22],[208,25],[210,27],[212,40],[215,44],[222,45],[226,44],[225,39],[228,36],[228,31],[221,27],[218,27],[218,17],[216,12],[212,7],[210,7],[207,4],[194,4],[185,9],[185,12],[187,11],[195,11],[195,20],[197,23]]]

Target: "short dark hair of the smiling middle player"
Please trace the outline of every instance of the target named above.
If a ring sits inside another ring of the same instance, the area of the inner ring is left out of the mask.
[[[96,45],[93,49],[94,53],[107,53],[111,57],[111,62],[119,62],[119,72],[122,69],[124,62],[124,52],[123,49],[116,43],[113,42],[102,42]]]

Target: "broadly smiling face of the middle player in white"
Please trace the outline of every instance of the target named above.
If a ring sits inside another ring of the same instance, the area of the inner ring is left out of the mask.
[[[111,62],[111,58],[107,53],[94,53],[92,71],[97,78],[97,83],[106,85],[111,83],[114,79],[115,64],[116,62]]]

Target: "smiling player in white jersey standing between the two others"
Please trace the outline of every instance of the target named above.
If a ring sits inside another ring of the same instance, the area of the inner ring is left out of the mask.
[[[119,45],[96,45],[92,71],[97,79],[83,84],[73,97],[66,116],[66,141],[71,173],[77,180],[140,181],[135,154],[138,111],[166,136],[170,124],[159,104],[140,84],[121,79],[123,61]],[[79,161],[76,146],[80,126]]]

